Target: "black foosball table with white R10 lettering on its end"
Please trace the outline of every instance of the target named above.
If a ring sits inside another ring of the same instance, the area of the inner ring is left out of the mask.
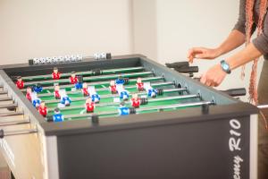
[[[15,178],[256,178],[256,107],[178,64],[78,59],[0,67],[0,149]]]

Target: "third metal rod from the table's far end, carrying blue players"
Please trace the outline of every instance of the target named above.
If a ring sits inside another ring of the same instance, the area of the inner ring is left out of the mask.
[[[162,76],[156,76],[156,77],[148,77],[148,78],[142,78],[142,81],[160,81],[163,80]],[[137,79],[130,79],[130,82],[135,82]],[[97,81],[97,82],[89,82],[89,86],[95,86],[95,85],[110,85],[110,81]],[[73,84],[66,84],[61,85],[61,88],[74,88]],[[43,90],[54,90],[54,86],[49,87],[43,87]],[[25,92],[26,89],[22,89],[22,92]]]

